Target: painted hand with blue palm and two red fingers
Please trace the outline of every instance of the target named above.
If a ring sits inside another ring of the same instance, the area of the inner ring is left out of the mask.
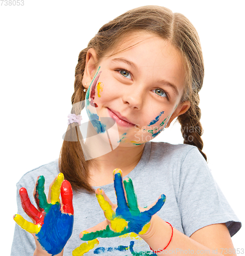
[[[34,190],[38,209],[31,203],[25,187],[19,189],[21,205],[34,223],[28,222],[20,215],[15,215],[15,222],[32,233],[37,249],[44,249],[52,255],[60,253],[72,235],[74,210],[72,204],[72,187],[60,173],[51,184],[48,203],[44,193],[44,177],[39,176]],[[62,202],[60,203],[59,195]]]

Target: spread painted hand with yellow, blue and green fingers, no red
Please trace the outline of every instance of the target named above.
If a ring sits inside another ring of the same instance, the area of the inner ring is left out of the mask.
[[[115,169],[113,174],[117,205],[109,200],[101,188],[97,189],[96,197],[100,207],[104,211],[106,220],[93,228],[81,232],[81,240],[89,241],[97,237],[118,237],[130,232],[144,234],[150,226],[152,215],[158,212],[165,203],[166,197],[165,195],[161,195],[150,209],[141,211],[131,179],[127,178],[122,181],[122,172],[120,169]]]

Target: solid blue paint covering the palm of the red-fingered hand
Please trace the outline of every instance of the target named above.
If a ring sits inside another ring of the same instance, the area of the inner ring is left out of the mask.
[[[62,214],[60,204],[53,204],[46,214],[37,240],[52,255],[60,253],[72,235],[73,215]]]

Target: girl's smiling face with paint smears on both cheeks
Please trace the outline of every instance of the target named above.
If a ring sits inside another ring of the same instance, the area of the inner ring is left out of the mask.
[[[120,146],[153,139],[189,108],[189,102],[180,103],[185,82],[181,54],[168,40],[149,33],[124,38],[117,52],[99,63],[90,49],[83,81],[91,82],[86,96],[99,118],[116,120]]]

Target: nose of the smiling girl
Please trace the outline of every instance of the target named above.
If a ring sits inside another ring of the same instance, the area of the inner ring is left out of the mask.
[[[143,86],[139,84],[129,86],[123,93],[122,100],[123,103],[128,104],[133,109],[142,109],[144,102],[144,90]]]

